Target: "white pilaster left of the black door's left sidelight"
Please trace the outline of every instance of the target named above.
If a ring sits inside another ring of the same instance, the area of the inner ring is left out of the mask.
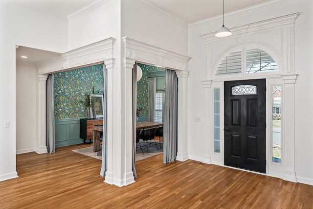
[[[202,80],[204,88],[204,157],[202,162],[211,164],[211,144],[213,144],[213,137],[210,137],[212,132],[212,124],[210,120],[210,110],[212,105],[212,80]]]

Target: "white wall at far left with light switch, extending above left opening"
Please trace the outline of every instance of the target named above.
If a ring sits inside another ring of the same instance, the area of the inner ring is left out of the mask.
[[[0,98],[2,98],[0,181],[2,181],[17,177],[15,45],[64,52],[67,49],[67,20],[22,8],[20,4],[11,1],[0,1],[0,31]],[[10,128],[3,128],[4,121],[10,122]],[[25,119],[24,123],[28,123],[28,120]]]

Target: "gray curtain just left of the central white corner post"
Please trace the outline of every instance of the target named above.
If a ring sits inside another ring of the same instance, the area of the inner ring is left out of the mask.
[[[107,112],[108,112],[108,69],[105,65],[103,65],[103,80],[104,80],[104,89],[103,89],[103,134],[102,134],[102,164],[101,164],[101,171],[100,175],[102,177],[106,176],[108,170],[108,133],[107,133]]]

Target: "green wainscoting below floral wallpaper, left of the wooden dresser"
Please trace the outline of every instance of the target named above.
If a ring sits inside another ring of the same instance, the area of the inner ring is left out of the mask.
[[[82,144],[79,137],[80,118],[55,119],[55,147]]]

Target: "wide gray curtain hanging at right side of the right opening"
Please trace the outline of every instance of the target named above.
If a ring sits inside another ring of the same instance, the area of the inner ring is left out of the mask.
[[[177,156],[178,81],[173,70],[165,71],[164,102],[163,163],[168,163]]]

